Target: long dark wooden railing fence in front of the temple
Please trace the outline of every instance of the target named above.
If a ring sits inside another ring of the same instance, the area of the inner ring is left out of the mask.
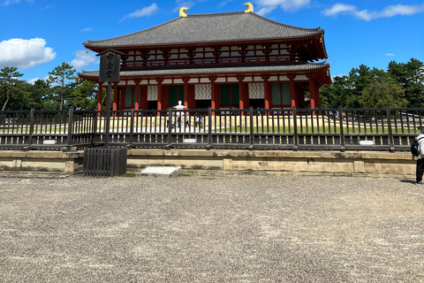
[[[112,111],[110,146],[406,151],[424,109]],[[105,141],[105,111],[0,111],[0,149],[75,150]]]

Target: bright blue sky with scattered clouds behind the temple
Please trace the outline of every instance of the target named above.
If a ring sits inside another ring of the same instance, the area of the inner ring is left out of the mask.
[[[361,64],[424,61],[424,1],[251,0],[254,12],[296,27],[321,27],[332,76]],[[98,70],[82,43],[131,34],[187,14],[244,11],[242,0],[50,1],[0,0],[0,68],[16,66],[24,80],[45,79],[67,62]]]

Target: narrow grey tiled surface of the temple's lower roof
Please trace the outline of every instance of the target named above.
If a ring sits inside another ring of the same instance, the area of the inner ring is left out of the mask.
[[[329,67],[326,62],[296,64],[257,64],[257,65],[223,65],[210,67],[184,67],[184,68],[160,68],[160,69],[142,69],[137,71],[121,71],[120,77],[150,77],[167,75],[196,75],[196,74],[218,74],[218,73],[284,73],[296,71],[314,71],[324,67]],[[80,73],[83,77],[98,77],[99,71],[83,71]]]

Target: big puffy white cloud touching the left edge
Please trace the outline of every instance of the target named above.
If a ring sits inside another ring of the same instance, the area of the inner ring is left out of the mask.
[[[50,62],[56,57],[56,52],[45,45],[46,41],[42,38],[12,38],[0,42],[0,67],[13,66],[25,70]]]

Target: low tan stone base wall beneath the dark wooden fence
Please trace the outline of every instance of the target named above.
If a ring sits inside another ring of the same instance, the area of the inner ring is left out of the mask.
[[[0,171],[82,171],[84,152],[0,150]],[[409,152],[128,149],[127,168],[178,166],[183,170],[413,177]]]

